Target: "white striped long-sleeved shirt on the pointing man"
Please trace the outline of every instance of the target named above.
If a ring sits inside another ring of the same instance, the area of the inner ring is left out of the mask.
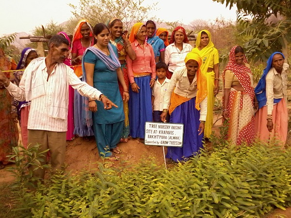
[[[65,64],[64,64],[65,65]],[[45,59],[41,63],[40,67],[37,69],[37,75],[42,76],[44,80],[45,95],[39,96],[31,100],[31,109],[29,111],[28,118],[28,129],[35,130],[47,130],[55,132],[66,132],[67,131],[67,109],[68,109],[68,95],[69,95],[69,85],[74,89],[77,89],[81,95],[85,95],[89,98],[99,99],[100,94],[102,94],[97,89],[89,86],[87,83],[82,82],[74,73],[74,71],[66,66],[66,72],[63,74],[57,74],[56,68],[59,64],[56,64],[52,73],[49,76],[47,73],[47,66]],[[10,83],[6,88],[8,92],[18,101],[25,100],[25,80],[30,68],[28,67],[17,87],[15,84]],[[66,86],[65,93],[55,93],[56,87],[64,85]],[[64,101],[66,116],[65,119],[57,119],[49,116],[49,109],[52,102],[52,96],[58,96],[59,101]]]

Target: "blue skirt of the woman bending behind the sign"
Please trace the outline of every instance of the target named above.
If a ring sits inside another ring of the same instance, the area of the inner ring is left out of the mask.
[[[198,135],[200,111],[195,108],[195,99],[196,97],[179,105],[170,117],[170,123],[184,124],[183,147],[168,147],[166,155],[166,158],[176,162],[187,160],[203,147],[204,133]]]

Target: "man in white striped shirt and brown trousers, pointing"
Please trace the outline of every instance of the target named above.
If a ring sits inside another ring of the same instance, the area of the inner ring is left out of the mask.
[[[34,59],[25,69],[19,87],[0,72],[0,84],[18,101],[31,101],[28,119],[28,144],[40,144],[39,151],[50,149],[53,173],[61,170],[65,162],[68,88],[71,85],[81,95],[103,102],[104,109],[114,105],[97,89],[82,82],[63,62],[69,52],[69,42],[60,35],[49,40],[46,58]],[[41,162],[41,165],[45,161]],[[34,177],[43,179],[45,170],[33,171]]]

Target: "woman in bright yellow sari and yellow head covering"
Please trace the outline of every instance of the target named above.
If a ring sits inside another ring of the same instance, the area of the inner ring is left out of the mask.
[[[205,122],[204,137],[210,138],[213,125],[214,95],[218,93],[219,83],[219,55],[214,44],[211,42],[211,34],[202,30],[197,35],[196,47],[192,51],[197,52],[201,59],[200,67],[202,74],[207,79],[207,117]]]

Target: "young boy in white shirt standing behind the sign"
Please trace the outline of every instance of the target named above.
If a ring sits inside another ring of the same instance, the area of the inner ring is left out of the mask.
[[[170,79],[166,78],[167,65],[164,62],[156,64],[156,74],[158,79],[152,88],[152,106],[153,106],[153,119],[154,122],[162,122],[161,114],[163,109],[163,97],[167,91],[168,83]],[[169,114],[166,117],[166,121],[170,121]]]

